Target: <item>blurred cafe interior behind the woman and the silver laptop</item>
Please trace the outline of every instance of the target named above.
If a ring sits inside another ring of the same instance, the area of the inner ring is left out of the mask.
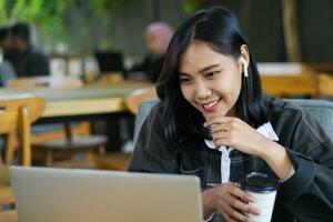
[[[157,24],[170,41],[186,17],[211,6],[225,6],[239,18],[264,93],[301,105],[333,140],[332,1],[2,2],[1,222],[24,221],[16,209],[11,165],[127,171],[151,109],[141,104],[157,98],[153,74],[163,63],[142,65],[157,58],[150,57],[149,29]]]

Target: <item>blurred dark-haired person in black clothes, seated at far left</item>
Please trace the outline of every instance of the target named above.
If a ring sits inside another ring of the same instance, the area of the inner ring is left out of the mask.
[[[11,49],[4,58],[11,61],[18,77],[49,75],[49,59],[30,41],[30,29],[17,23],[11,29]]]

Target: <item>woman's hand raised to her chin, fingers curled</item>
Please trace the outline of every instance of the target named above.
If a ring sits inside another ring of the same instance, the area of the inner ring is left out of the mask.
[[[204,123],[212,127],[216,148],[232,147],[243,153],[260,155],[264,142],[271,142],[244,121],[232,117],[213,117]]]

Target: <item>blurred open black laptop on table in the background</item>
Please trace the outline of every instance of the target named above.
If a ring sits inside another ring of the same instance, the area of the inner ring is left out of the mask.
[[[97,51],[94,57],[98,61],[100,72],[112,73],[121,72],[123,77],[125,75],[125,69],[123,65],[123,57],[121,52],[118,51]]]

